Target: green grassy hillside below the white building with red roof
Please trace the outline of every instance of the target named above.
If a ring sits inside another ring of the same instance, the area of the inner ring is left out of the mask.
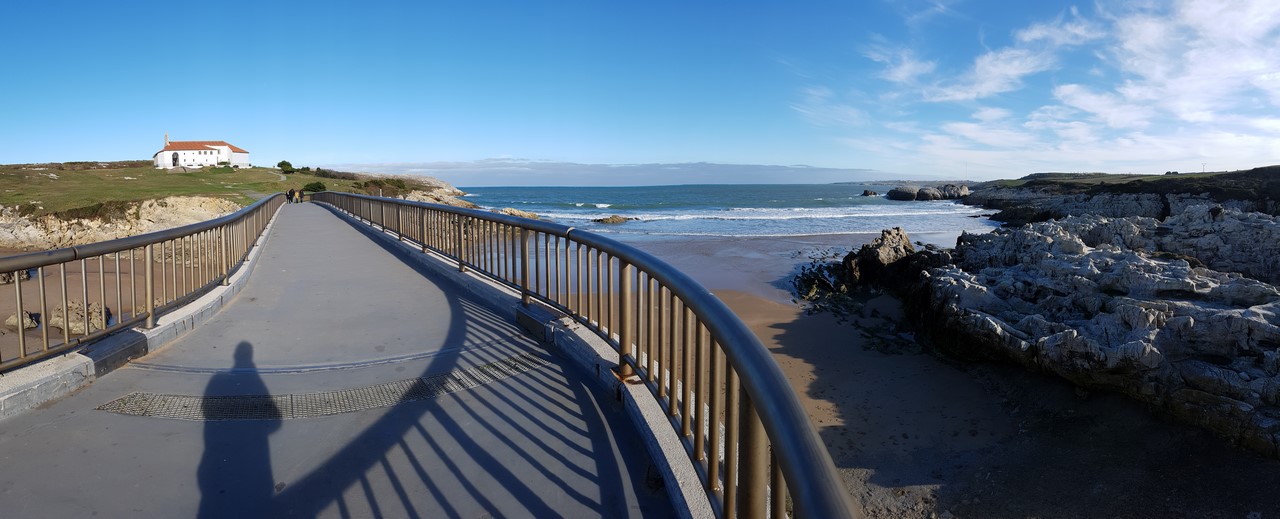
[[[321,182],[330,191],[365,192],[371,176],[314,172],[282,174],[274,168],[155,169],[150,160],[0,165],[0,206],[23,214],[111,217],[125,202],[165,196],[216,196],[247,205],[262,196]],[[404,181],[396,182],[404,187]],[[415,182],[410,181],[408,187]],[[376,186],[375,186],[376,191]]]

